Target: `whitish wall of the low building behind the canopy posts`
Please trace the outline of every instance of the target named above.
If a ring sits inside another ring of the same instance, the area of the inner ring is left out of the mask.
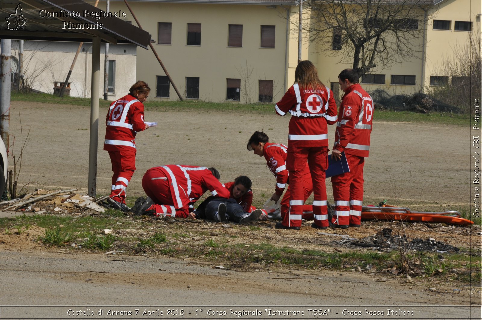
[[[65,81],[72,65],[78,42],[24,41],[24,79],[32,89],[54,93],[54,81]],[[19,45],[12,40],[12,55],[18,60]],[[108,100],[116,100],[129,92],[135,82],[136,49],[134,45],[109,45],[109,60],[115,60],[115,91]],[[101,79],[99,92],[104,92],[105,45],[101,44]],[[14,71],[16,63],[14,63]],[[80,49],[68,82],[70,96],[90,97],[92,77],[92,43],[84,43]]]

